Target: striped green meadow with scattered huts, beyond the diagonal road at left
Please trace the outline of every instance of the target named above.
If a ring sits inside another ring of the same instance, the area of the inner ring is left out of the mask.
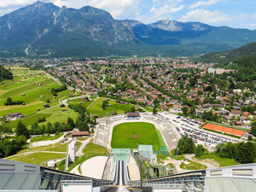
[[[20,112],[23,115],[29,116],[37,112],[37,109],[44,109],[44,104],[49,99],[50,104],[54,106],[58,104],[61,97],[70,94],[70,90],[64,90],[57,93],[57,97],[50,93],[52,88],[61,87],[46,75],[42,75],[39,71],[30,71],[26,68],[12,67],[11,72],[14,80],[4,80],[0,86],[0,116],[8,113]],[[30,75],[30,74],[33,75]],[[22,77],[21,77],[22,75]],[[3,86],[4,84],[4,86]],[[40,85],[41,84],[41,85]],[[22,96],[25,94],[25,96]],[[6,99],[11,97],[13,101],[23,101],[26,105],[4,106]]]

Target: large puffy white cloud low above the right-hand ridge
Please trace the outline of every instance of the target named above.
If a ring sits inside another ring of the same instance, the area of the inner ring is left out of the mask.
[[[213,12],[205,9],[195,9],[184,15],[179,21],[200,21],[203,23],[218,23],[231,20],[229,15],[223,15],[220,11]]]

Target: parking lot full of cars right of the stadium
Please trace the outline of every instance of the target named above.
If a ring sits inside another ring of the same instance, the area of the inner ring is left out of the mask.
[[[195,140],[195,143],[202,144],[208,149],[215,149],[218,144],[224,142],[241,142],[241,139],[236,139],[234,137],[225,136],[221,133],[218,134],[212,131],[200,129],[199,126],[204,124],[200,120],[184,118],[166,112],[159,113],[159,115],[160,117],[168,119],[181,136],[184,136],[184,134],[187,133],[189,137],[192,137]]]

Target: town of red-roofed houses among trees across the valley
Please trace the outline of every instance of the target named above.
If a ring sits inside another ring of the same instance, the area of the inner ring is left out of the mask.
[[[256,115],[255,82],[239,81],[236,71],[212,67],[213,63],[152,58],[73,61],[45,70],[84,94],[249,130]]]

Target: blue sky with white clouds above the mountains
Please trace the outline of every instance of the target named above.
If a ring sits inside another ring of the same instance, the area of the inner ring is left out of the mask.
[[[1,0],[0,16],[35,0]],[[255,0],[41,0],[44,3],[80,9],[90,5],[108,11],[116,20],[199,21],[211,26],[256,29]]]

